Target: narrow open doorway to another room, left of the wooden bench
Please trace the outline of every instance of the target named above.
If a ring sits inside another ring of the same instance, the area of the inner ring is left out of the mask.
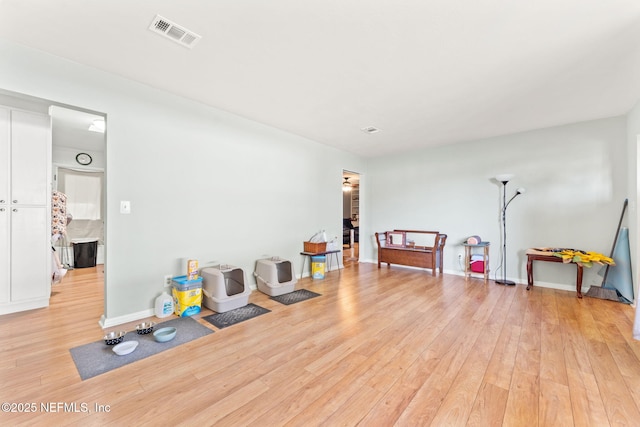
[[[358,263],[360,256],[360,174],[342,171],[342,263]]]

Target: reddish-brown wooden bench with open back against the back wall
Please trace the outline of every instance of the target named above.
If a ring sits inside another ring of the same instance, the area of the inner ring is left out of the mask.
[[[442,274],[442,251],[447,235],[438,231],[393,230],[376,233],[378,268],[384,262],[411,267],[436,268]]]

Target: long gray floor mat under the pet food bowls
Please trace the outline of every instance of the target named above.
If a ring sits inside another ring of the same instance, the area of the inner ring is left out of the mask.
[[[214,332],[190,317],[180,317],[158,323],[154,330],[167,326],[173,326],[178,331],[174,339],[164,343],[157,342],[153,338],[153,333],[138,335],[135,330],[127,332],[123,342],[138,341],[138,347],[133,353],[124,356],[115,354],[113,346],[106,345],[104,340],[72,348],[69,351],[76,364],[80,378],[84,381]],[[117,327],[114,330],[117,330]]]

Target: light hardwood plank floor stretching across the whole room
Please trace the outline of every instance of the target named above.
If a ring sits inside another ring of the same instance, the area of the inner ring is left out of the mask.
[[[0,423],[640,425],[630,306],[357,263],[298,288],[322,296],[285,306],[255,291],[271,313],[223,330],[200,320],[215,333],[82,381],[69,349],[103,335],[102,274],[74,270],[49,308],[0,317],[0,396],[92,412]]]

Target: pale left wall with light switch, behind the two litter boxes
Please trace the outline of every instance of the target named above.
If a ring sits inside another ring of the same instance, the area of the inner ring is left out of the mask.
[[[253,285],[257,259],[298,269],[303,240],[342,235],[357,157],[10,42],[0,62],[0,88],[107,117],[106,324],[144,315],[186,259],[239,266]]]

